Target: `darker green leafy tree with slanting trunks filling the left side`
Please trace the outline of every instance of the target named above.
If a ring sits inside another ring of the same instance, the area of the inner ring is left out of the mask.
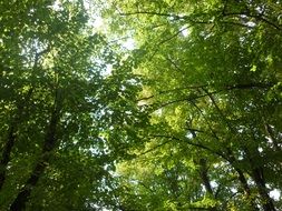
[[[109,138],[127,133],[117,128],[125,115],[137,121],[119,108],[139,112],[133,64],[89,27],[82,1],[0,8],[1,210],[113,207],[116,145],[127,143]],[[115,77],[104,76],[107,66]]]

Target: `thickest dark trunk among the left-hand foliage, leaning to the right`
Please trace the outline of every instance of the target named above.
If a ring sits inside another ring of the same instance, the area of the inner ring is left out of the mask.
[[[58,102],[59,101],[59,102]],[[50,118],[50,122],[47,128],[45,135],[45,142],[42,147],[42,152],[33,171],[31,172],[29,179],[25,183],[23,188],[18,193],[17,198],[10,205],[11,211],[23,211],[26,210],[26,203],[29,201],[32,189],[37,185],[40,177],[43,174],[46,167],[48,165],[49,159],[51,158],[51,151],[57,145],[57,127],[60,119],[60,104],[61,101],[56,94],[54,112]]]

